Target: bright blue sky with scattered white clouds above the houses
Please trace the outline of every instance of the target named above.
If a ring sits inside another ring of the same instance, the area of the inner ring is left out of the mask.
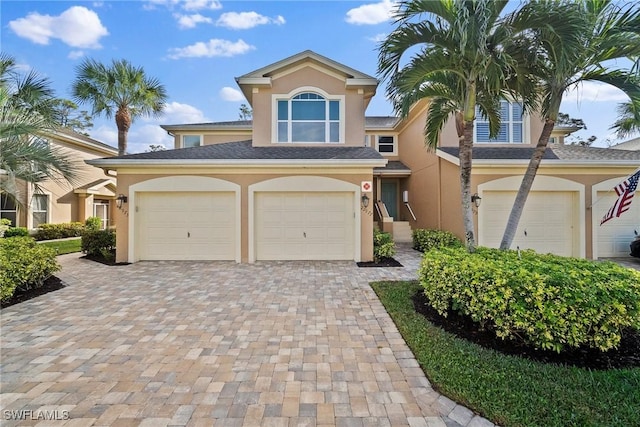
[[[159,124],[238,119],[247,101],[234,78],[306,49],[375,76],[377,45],[393,28],[391,0],[3,0],[0,7],[2,51],[21,69],[48,77],[61,98],[71,98],[75,68],[85,57],[127,59],[165,85],[164,115],[134,122],[130,152],[169,147]],[[595,145],[606,146],[607,139],[619,142],[608,128],[625,99],[589,84],[566,94],[561,111],[585,121],[588,129],[578,136],[595,135]],[[367,115],[393,115],[383,85]],[[95,119],[89,133],[117,146],[113,119]]]

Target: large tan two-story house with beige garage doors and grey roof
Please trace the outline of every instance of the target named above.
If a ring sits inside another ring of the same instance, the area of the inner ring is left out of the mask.
[[[426,101],[405,120],[365,117],[378,81],[311,51],[236,80],[252,121],[166,125],[174,150],[88,161],[117,171],[127,198],[116,216],[117,261],[369,261],[374,223],[396,240],[415,228],[464,234],[455,125],[428,152]],[[478,117],[481,245],[499,243],[541,129],[541,118],[514,102],[503,102],[496,140]],[[640,202],[603,227],[599,220],[640,153],[564,146],[567,132],[554,134],[514,248],[626,255]]]

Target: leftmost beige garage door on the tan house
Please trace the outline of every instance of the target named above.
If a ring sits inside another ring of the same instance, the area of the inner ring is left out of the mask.
[[[235,193],[136,195],[140,260],[235,260]]]

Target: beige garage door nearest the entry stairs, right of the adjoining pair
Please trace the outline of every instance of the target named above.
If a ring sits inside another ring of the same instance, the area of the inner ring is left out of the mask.
[[[256,259],[354,259],[353,193],[256,193]]]

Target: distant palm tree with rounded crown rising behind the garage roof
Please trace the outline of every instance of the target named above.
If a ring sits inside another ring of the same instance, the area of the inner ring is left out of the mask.
[[[127,134],[134,119],[158,116],[164,110],[167,100],[164,86],[125,59],[113,60],[111,66],[85,59],[76,71],[72,85],[74,99],[80,103],[90,102],[94,116],[104,114],[111,118],[115,115],[118,154],[124,155]]]

